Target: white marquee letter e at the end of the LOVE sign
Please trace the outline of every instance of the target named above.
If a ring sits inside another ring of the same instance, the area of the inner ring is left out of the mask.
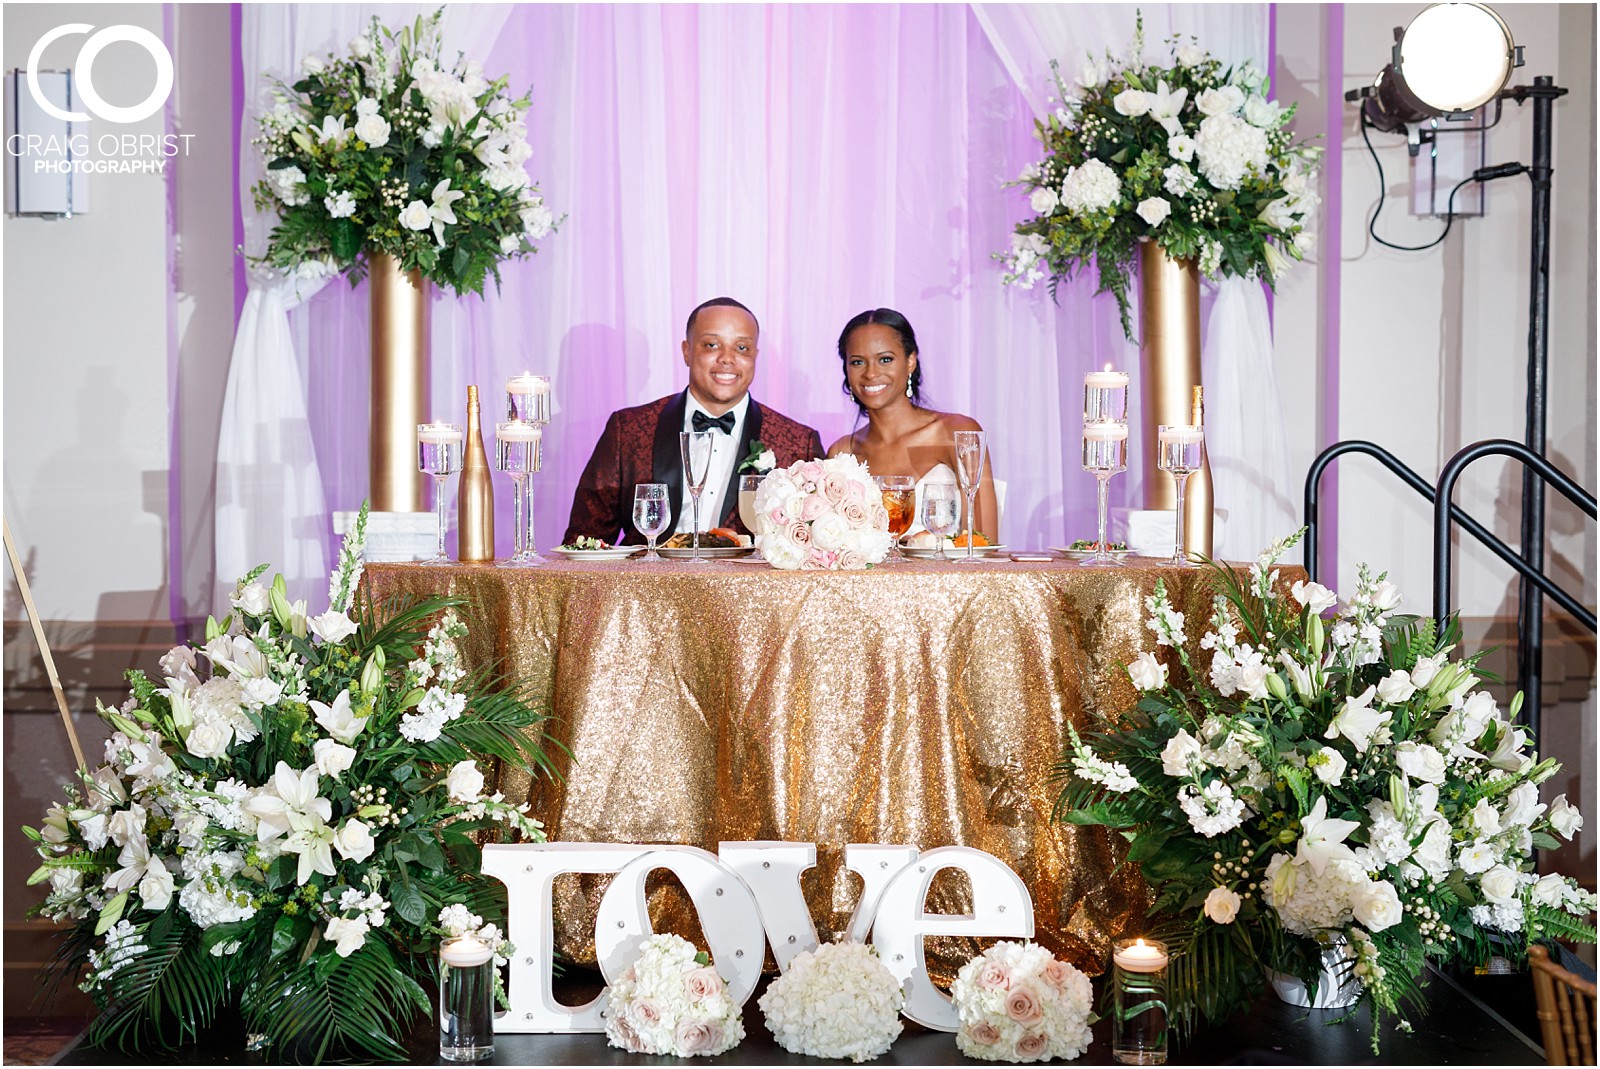
[[[973,885],[973,912],[928,914],[928,885],[942,869],[960,869]],[[950,997],[928,979],[923,936],[1034,935],[1034,901],[1000,858],[971,847],[939,847],[901,871],[883,890],[872,946],[896,979],[906,983],[906,1016],[923,1027],[955,1032],[962,1021]]]

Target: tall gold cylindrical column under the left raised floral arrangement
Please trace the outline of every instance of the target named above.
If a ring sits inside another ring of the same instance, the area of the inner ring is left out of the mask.
[[[368,480],[373,512],[422,512],[422,475],[416,467],[416,426],[427,422],[427,280],[402,272],[387,253],[368,254],[371,294],[371,450]]]

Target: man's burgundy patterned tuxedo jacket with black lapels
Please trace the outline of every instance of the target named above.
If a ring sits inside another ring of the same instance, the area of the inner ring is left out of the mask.
[[[605,432],[595,443],[578,493],[573,494],[573,518],[566,525],[563,544],[573,544],[579,534],[602,538],[613,544],[643,543],[634,530],[634,486],[637,483],[666,483],[672,504],[669,531],[677,530],[678,509],[683,507],[683,459],[678,432],[683,430],[686,390],[653,400],[648,405],[622,408],[606,419]],[[710,526],[728,526],[744,531],[739,522],[739,464],[750,453],[750,443],[760,442],[778,456],[778,467],[795,461],[822,456],[822,438],[816,430],[787,416],[763,408],[750,398],[744,414],[744,430],[739,451],[734,454],[733,475],[722,494],[726,515]],[[702,520],[704,522],[704,520]],[[618,533],[621,531],[621,539]],[[749,531],[746,531],[749,533]]]

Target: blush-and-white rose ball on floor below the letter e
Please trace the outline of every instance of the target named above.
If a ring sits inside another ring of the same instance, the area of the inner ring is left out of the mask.
[[[1037,943],[997,943],[955,976],[955,1045],[984,1061],[1077,1058],[1093,1039],[1090,978]]]

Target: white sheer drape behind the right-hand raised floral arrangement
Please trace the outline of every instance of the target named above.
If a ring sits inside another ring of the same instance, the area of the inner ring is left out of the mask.
[[[1192,35],[1227,64],[1253,59],[1270,69],[1266,5],[1171,3],[1142,11],[1147,59],[1165,59],[1168,37]],[[1133,37],[1133,11],[1118,5],[974,3],[973,13],[1040,117],[1056,107],[1050,99],[1051,59],[1070,82],[1086,53],[1099,56],[1107,46],[1126,53]],[[1261,283],[1229,278],[1216,288],[1202,352],[1206,451],[1214,501],[1226,512],[1213,554],[1250,560],[1296,525],[1283,410],[1272,373],[1272,322]]]

